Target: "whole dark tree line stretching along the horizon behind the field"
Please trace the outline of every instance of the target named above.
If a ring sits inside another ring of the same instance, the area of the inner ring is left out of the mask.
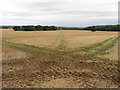
[[[56,26],[0,26],[2,29],[14,29],[15,31],[54,31],[54,30],[91,30],[91,31],[120,31],[120,25],[97,25],[80,27],[56,27]]]

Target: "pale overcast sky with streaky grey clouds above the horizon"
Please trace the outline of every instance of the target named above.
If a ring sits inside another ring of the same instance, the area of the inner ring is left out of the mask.
[[[1,25],[84,27],[118,23],[119,0],[0,0]]]

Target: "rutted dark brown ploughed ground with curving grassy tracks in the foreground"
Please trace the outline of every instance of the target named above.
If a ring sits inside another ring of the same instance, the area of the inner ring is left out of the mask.
[[[113,37],[66,50],[3,41],[3,88],[117,88],[118,60],[101,58],[116,45]],[[16,52],[16,53],[15,53]],[[8,54],[12,53],[12,54]]]

